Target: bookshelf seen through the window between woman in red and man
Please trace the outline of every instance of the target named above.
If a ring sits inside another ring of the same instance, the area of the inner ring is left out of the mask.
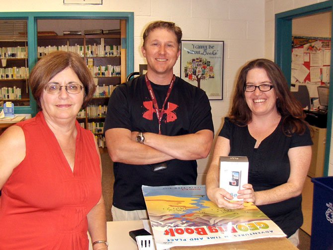
[[[96,92],[77,119],[81,126],[95,134],[98,145],[104,147],[103,126],[108,100],[114,88],[126,79],[126,64],[121,65],[126,61],[123,58],[126,50],[121,49],[121,34],[38,36],[38,58],[55,50],[78,53],[92,73]]]

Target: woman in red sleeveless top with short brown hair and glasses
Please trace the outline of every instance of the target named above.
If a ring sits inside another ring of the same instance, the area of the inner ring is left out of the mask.
[[[0,250],[107,249],[101,161],[76,116],[95,91],[76,53],[37,62],[29,84],[39,112],[0,136]]]

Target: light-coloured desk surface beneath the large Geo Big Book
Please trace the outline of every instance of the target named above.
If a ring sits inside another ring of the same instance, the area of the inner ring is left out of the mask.
[[[109,249],[137,250],[136,242],[128,235],[131,230],[143,228],[142,221],[108,221]],[[89,239],[90,241],[90,239]],[[252,241],[232,242],[198,247],[173,247],[170,250],[297,250],[286,238],[265,238]],[[91,243],[89,250],[92,250]]]

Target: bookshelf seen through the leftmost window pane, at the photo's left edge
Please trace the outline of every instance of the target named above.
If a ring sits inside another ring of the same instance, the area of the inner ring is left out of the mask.
[[[0,37],[0,101],[29,106],[26,37]]]

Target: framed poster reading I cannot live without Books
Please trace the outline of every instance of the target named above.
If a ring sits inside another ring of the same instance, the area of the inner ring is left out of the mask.
[[[180,50],[180,78],[204,90],[209,100],[222,100],[224,41],[182,40]]]

